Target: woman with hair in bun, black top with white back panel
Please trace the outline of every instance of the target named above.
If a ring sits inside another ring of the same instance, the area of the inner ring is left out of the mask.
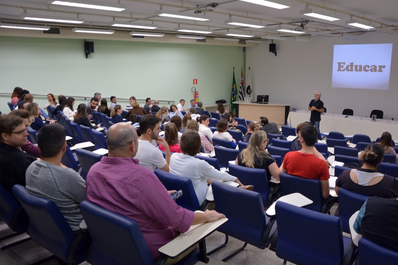
[[[383,198],[398,197],[398,179],[377,172],[383,161],[384,149],[379,144],[368,145],[360,156],[363,161],[357,170],[345,170],[336,180],[336,193],[345,188],[356,193]]]

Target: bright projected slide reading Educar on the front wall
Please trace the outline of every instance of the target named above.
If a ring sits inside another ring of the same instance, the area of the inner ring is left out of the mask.
[[[393,44],[334,45],[332,88],[389,89]]]

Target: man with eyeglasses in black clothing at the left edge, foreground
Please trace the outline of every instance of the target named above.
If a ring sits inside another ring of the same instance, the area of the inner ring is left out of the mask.
[[[26,169],[36,160],[20,149],[26,144],[27,136],[21,117],[0,116],[0,181],[9,190],[15,184],[26,185]]]

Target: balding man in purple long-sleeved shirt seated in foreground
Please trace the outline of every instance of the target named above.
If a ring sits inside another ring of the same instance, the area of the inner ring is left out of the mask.
[[[143,119],[151,117],[156,118],[147,115]],[[176,237],[176,230],[185,233],[191,225],[225,217],[216,211],[194,213],[178,206],[170,196],[176,190],[167,191],[153,172],[134,159],[137,150],[145,147],[137,145],[137,133],[131,125],[122,122],[113,125],[106,141],[108,156],[102,157],[87,176],[87,199],[136,221],[154,263],[158,249]]]

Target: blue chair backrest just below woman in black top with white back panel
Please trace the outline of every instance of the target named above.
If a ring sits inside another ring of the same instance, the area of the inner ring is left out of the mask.
[[[361,209],[362,205],[369,198],[364,194],[359,194],[349,191],[344,188],[339,188],[339,217],[344,233],[350,234],[350,224],[348,221],[350,217]]]

